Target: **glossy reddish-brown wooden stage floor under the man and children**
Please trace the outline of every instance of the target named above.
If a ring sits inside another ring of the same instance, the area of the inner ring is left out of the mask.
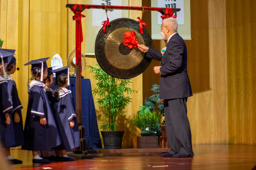
[[[23,160],[11,169],[97,169],[97,170],[158,170],[158,169],[252,169],[256,165],[256,146],[194,145],[192,158],[160,157],[160,153],[92,154],[93,159],[51,164],[32,164],[32,152],[11,150],[14,158]],[[0,167],[1,169],[1,167]]]

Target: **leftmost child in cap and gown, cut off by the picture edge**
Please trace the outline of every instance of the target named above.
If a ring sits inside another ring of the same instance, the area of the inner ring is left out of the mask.
[[[9,159],[12,164],[22,164],[21,160],[14,159],[10,153],[10,147],[15,145],[15,137],[11,116],[13,106],[9,99],[5,69],[8,65],[8,60],[14,53],[8,51],[10,50],[0,49],[0,75],[3,75],[3,77],[0,76],[0,140],[6,159]]]

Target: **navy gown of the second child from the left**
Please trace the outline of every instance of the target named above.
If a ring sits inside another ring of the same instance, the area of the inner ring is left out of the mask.
[[[7,75],[7,83],[8,83],[8,94],[10,101],[13,105],[13,111],[11,113],[12,115],[12,125],[13,125],[13,131],[14,131],[14,138],[15,138],[15,144],[12,147],[18,147],[25,144],[24,141],[24,133],[23,133],[23,121],[22,121],[22,113],[21,109],[23,108],[19,96],[18,96],[18,90],[15,81],[10,75]],[[18,113],[20,121],[18,123],[14,122],[14,114]]]

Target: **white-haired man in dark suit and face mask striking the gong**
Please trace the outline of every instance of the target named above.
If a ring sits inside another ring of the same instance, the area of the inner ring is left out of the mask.
[[[147,57],[161,61],[154,67],[156,74],[161,73],[159,97],[163,99],[168,145],[171,150],[161,157],[192,157],[191,130],[187,118],[187,98],[192,90],[187,74],[187,48],[177,33],[177,20],[170,17],[162,20],[162,39],[167,40],[165,51],[158,51],[138,45]]]

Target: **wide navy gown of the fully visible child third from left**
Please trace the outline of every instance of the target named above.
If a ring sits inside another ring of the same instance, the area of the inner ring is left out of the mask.
[[[30,83],[23,150],[41,151],[56,147],[61,143],[44,86],[42,82],[37,80]],[[40,124],[40,116],[46,118],[46,125],[42,126]]]

